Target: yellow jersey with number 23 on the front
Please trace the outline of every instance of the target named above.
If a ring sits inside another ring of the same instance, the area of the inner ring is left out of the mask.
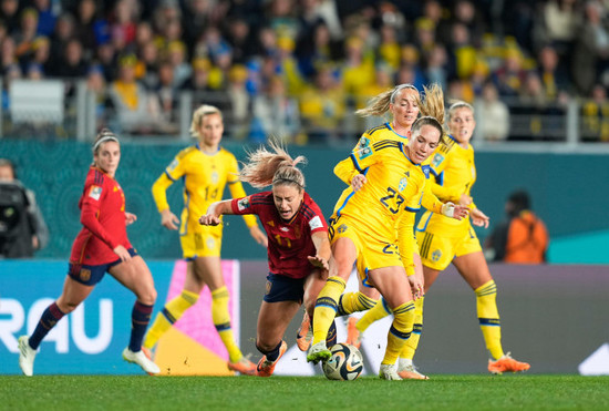
[[[430,167],[412,162],[405,144],[391,140],[368,144],[350,160],[368,182],[360,191],[351,191],[334,214],[350,216],[360,230],[379,240],[395,243],[396,223],[407,213],[407,205],[419,201]]]

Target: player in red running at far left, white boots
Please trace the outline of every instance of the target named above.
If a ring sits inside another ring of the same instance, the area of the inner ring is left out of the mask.
[[[131,339],[123,350],[123,358],[151,374],[159,372],[141,350],[156,290],[151,270],[127,238],[126,226],[137,217],[125,212],[125,195],[114,179],[120,161],[118,138],[111,131],[102,130],[93,144],[93,164],[79,202],[83,228],[72,245],[63,291],[44,310],[34,332],[19,338],[19,366],[25,376],[33,374],[34,358],[42,339],[63,316],[84,301],[106,271],[137,297],[132,310]]]

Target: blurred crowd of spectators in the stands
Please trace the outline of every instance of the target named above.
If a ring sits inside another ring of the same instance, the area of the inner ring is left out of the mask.
[[[607,0],[0,0],[0,70],[86,79],[99,114],[175,133],[180,92],[230,113],[237,138],[340,138],[347,113],[395,83],[509,116],[564,113],[609,140]],[[535,120],[527,126],[535,137]],[[607,122],[607,123],[606,123]],[[365,126],[363,124],[362,126]],[[557,124],[560,126],[560,124]],[[303,136],[302,130],[307,130]]]

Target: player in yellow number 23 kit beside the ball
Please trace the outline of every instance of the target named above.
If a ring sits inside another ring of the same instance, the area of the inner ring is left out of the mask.
[[[338,299],[344,291],[355,260],[368,267],[367,280],[391,307],[394,319],[388,333],[388,348],[379,376],[401,380],[395,361],[410,337],[414,320],[413,292],[423,284],[406,276],[398,250],[398,230],[406,205],[422,192],[427,167],[422,166],[442,136],[442,125],[434,117],[419,119],[412,126],[409,144],[380,141],[351,154],[354,166],[367,169],[367,182],[354,192],[340,214],[332,219],[330,242],[336,273],[328,278],[314,309],[313,341],[308,361],[326,361],[330,351],[326,337],[333,321]]]

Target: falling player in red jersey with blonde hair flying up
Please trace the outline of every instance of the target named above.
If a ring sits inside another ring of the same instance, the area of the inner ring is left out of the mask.
[[[301,304],[313,314],[317,295],[326,284],[331,258],[328,226],[319,206],[304,193],[304,176],[279,145],[251,153],[239,177],[254,187],[272,191],[214,203],[199,218],[203,225],[220,224],[224,214],[256,214],[268,236],[269,275],[258,315],[256,348],[264,355],[257,374],[270,377],[286,352],[282,340]]]

